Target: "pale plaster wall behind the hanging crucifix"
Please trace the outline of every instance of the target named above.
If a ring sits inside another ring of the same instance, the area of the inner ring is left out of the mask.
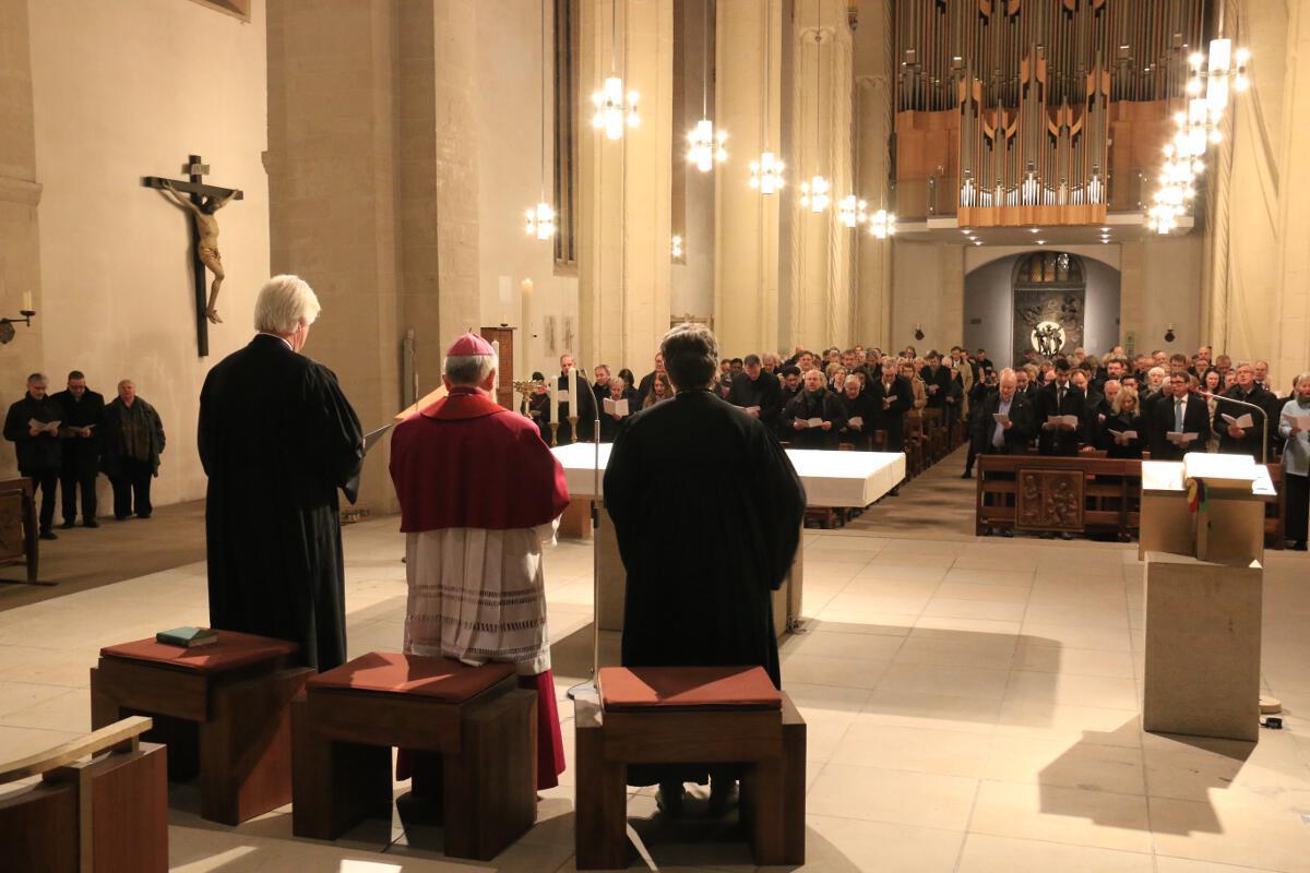
[[[45,363],[114,394],[136,382],[159,410],[168,449],[160,504],[200,497],[195,450],[210,365],[252,334],[269,275],[263,1],[253,21],[194,3],[39,0],[29,4],[43,276]],[[189,153],[245,199],[219,213],[225,323],[196,356],[189,219],[143,175],[181,178]]]

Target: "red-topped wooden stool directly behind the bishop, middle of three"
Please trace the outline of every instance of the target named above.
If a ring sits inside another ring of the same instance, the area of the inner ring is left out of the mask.
[[[440,755],[449,857],[490,860],[537,818],[537,695],[511,664],[371,652],[312,678],[291,725],[296,836],[389,819],[392,746]]]

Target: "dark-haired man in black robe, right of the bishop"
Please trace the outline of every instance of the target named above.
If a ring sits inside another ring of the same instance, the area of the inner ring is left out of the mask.
[[[676,327],[660,348],[677,394],[625,419],[605,470],[627,571],[624,666],[760,665],[781,687],[772,597],[795,558],[804,487],[769,428],[710,391],[709,329]],[[683,780],[701,775],[630,767],[627,779],[659,781],[676,813]],[[730,784],[717,777],[711,801]]]

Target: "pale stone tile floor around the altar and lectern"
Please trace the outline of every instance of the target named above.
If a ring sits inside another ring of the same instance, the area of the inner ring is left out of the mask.
[[[352,654],[401,644],[396,526],[346,529]],[[1286,729],[1250,745],[1140,730],[1133,550],[878,534],[807,531],[812,620],[782,649],[786,690],[810,725],[807,869],[1310,870],[1303,555],[1267,555],[1264,681],[1288,707]],[[546,561],[563,699],[590,673],[591,550],[562,542]],[[204,618],[203,564],[0,611],[0,760],[88,729],[100,645]],[[601,648],[610,657],[616,640]],[[571,704],[561,716],[571,758]],[[185,873],[572,869],[571,771],[538,825],[490,865],[443,859],[435,827],[375,822],[329,844],[293,839],[290,809],[231,828],[198,818],[191,788],[172,801],[172,864]],[[751,866],[743,843],[698,844],[723,826],[690,813],[669,825],[648,791],[630,796],[660,868]]]

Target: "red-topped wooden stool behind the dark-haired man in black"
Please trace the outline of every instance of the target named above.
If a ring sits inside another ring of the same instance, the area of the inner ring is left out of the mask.
[[[629,764],[740,763],[755,863],[804,864],[806,722],[762,668],[604,668],[579,698],[579,870],[626,868]]]

